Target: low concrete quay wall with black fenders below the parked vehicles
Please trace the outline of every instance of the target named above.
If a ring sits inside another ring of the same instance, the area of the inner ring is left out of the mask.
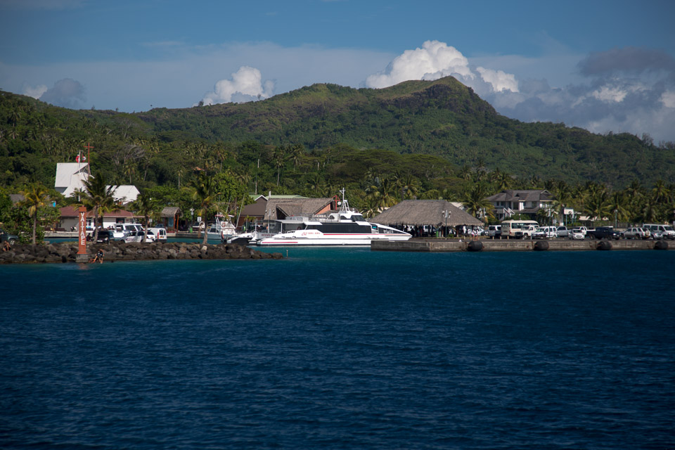
[[[392,252],[526,252],[537,250],[675,250],[666,240],[512,240],[411,239],[373,240],[371,250]]]

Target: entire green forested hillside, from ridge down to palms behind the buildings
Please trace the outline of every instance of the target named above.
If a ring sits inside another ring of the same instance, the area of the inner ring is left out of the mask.
[[[257,193],[347,187],[353,205],[373,211],[401,198],[464,200],[504,188],[671,193],[675,181],[674,143],[511,120],[452,77],[387,89],[315,84],[264,101],[131,114],[0,92],[5,191],[53,186],[56,162],[75,161],[86,143],[95,174],[141,191],[221,173]]]

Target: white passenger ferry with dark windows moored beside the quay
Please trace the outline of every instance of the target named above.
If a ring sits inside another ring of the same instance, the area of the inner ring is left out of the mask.
[[[311,217],[292,216],[274,221],[276,234],[256,241],[261,246],[295,245],[371,245],[371,241],[409,240],[410,233],[391,226],[374,224],[364,216],[351,210],[345,200],[345,190],[338,212],[316,214]]]

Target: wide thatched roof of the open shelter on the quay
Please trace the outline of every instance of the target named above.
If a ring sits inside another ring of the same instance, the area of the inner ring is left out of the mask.
[[[448,211],[446,217],[444,211]],[[389,226],[478,226],[483,222],[445,200],[403,200],[373,221]]]

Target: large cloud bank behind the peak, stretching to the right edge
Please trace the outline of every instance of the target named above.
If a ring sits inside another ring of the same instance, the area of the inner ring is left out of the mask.
[[[544,62],[551,65],[555,60],[548,58]],[[569,67],[570,58],[563,60]],[[527,59],[482,56],[472,63],[452,46],[426,41],[421,48],[406,50],[394,58],[383,72],[368,77],[365,84],[383,88],[406,80],[451,75],[499,113],[514,119],[565,122],[596,133],[627,131],[641,136],[646,132],[657,140],[675,139],[673,56],[628,47],[577,56],[576,61],[580,78],[565,86],[551,86],[546,78],[517,79],[508,73],[519,73],[520,68],[521,75],[532,74],[532,61]],[[508,72],[503,66],[500,70],[500,63],[510,63]]]

